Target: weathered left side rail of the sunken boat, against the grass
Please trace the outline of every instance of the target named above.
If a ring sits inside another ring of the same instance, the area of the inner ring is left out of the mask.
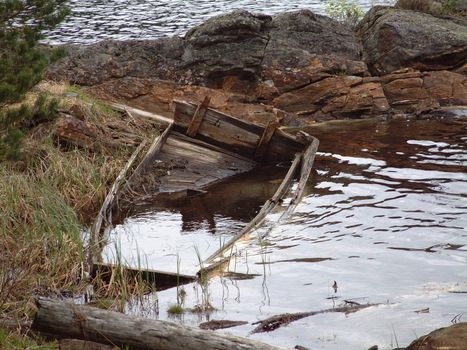
[[[96,219],[94,220],[94,224],[91,227],[90,238],[89,238],[89,247],[88,247],[88,256],[87,256],[87,272],[91,272],[93,263],[95,263],[97,256],[100,252],[99,241],[100,241],[100,233],[102,228],[102,223],[104,222],[105,217],[107,216],[109,208],[112,207],[113,201],[115,196],[123,182],[126,178],[126,174],[128,170],[130,170],[131,166],[136,160],[136,157],[141,152],[141,150],[146,145],[146,141],[141,142],[141,144],[135,149],[131,157],[126,162],[125,166],[120,170],[117,178],[115,179],[110,191],[107,193],[107,196],[102,203],[101,209],[97,214]]]

